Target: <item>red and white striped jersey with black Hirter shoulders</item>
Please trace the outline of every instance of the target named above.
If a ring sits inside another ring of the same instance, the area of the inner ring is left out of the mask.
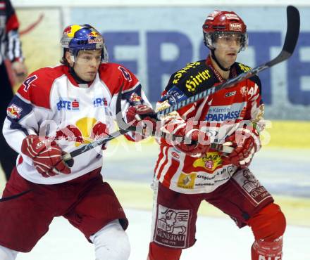
[[[246,65],[235,63],[230,77],[247,70]],[[178,103],[221,81],[221,75],[212,67],[209,58],[187,64],[171,76],[156,109]],[[254,126],[251,134],[259,139],[256,129],[263,122],[262,115],[261,82],[254,76],[171,113],[162,123],[163,129],[192,124],[206,132],[211,143],[223,144],[227,136],[243,127],[244,122]],[[161,138],[155,176],[164,186],[179,193],[211,193],[228,181],[236,169],[233,164],[224,164],[221,153],[216,150],[209,150],[202,157],[192,157]]]

